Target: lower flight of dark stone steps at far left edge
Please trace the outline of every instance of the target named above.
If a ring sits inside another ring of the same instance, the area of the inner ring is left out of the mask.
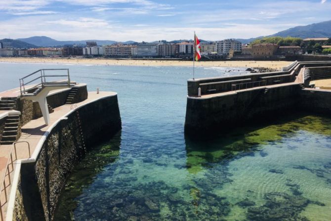
[[[19,115],[10,115],[6,118],[5,127],[2,133],[0,144],[12,144],[17,139],[18,124],[20,123]]]

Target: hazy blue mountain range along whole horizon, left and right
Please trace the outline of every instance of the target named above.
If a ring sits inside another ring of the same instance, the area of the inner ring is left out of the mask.
[[[237,40],[242,42],[243,44],[247,44],[256,39],[260,39],[263,37],[272,37],[272,36],[280,36],[280,37],[291,36],[291,37],[297,37],[297,38],[301,38],[301,39],[323,38],[323,37],[331,38],[331,20],[320,22],[320,23],[314,23],[314,24],[306,25],[306,26],[297,26],[294,28],[287,29],[285,31],[278,32],[278,33],[270,35],[270,36],[260,36],[257,38],[237,39]],[[98,45],[118,43],[116,41],[108,41],[108,40],[57,41],[55,39],[51,39],[46,36],[35,36],[35,37],[16,39],[16,40],[12,40],[12,39],[0,40],[0,42],[3,43],[4,47],[15,47],[15,48],[64,46],[64,45],[72,45],[72,44],[85,45],[86,42],[89,42],[89,41],[96,42]],[[203,40],[201,40],[201,41],[205,42]],[[181,40],[174,40],[174,41],[171,41],[170,43],[178,43],[178,42],[181,42]],[[127,41],[127,42],[123,42],[123,44],[137,44],[137,43],[134,41]]]

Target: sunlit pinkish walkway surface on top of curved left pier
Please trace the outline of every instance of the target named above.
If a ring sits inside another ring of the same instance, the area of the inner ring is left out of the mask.
[[[39,149],[36,149],[36,148],[37,148],[40,140],[45,138],[43,136],[44,133],[49,128],[54,127],[55,126],[54,123],[56,124],[59,119],[61,119],[63,116],[68,114],[70,111],[72,111],[76,107],[83,106],[87,103],[93,102],[93,101],[98,100],[103,97],[114,96],[116,94],[117,93],[115,93],[115,92],[108,92],[108,91],[107,92],[100,91],[99,94],[97,94],[96,92],[88,92],[88,98],[80,103],[76,103],[73,105],[66,104],[66,105],[62,105],[60,107],[56,107],[56,108],[54,108],[54,112],[50,114],[50,124],[48,126],[45,125],[42,117],[38,118],[36,120],[32,120],[22,127],[22,135],[18,141],[29,142],[31,155],[36,155],[36,153],[35,154],[33,154],[33,153],[35,152],[35,150],[39,151]],[[0,145],[0,180],[1,181],[4,176],[4,173],[6,172],[6,165],[7,165],[8,159],[10,157],[11,149],[12,149],[12,145]],[[27,143],[16,144],[16,149],[17,149],[17,159],[29,158],[29,149],[28,149]],[[12,157],[13,157],[13,161],[16,162],[14,150],[12,152]],[[13,170],[12,170],[11,165],[9,166],[11,182],[14,177],[15,162],[13,165],[14,166]],[[6,179],[6,186],[7,186],[9,184],[8,176],[6,176],[5,179]],[[10,193],[10,187],[11,186],[6,187],[6,192],[7,192],[8,198],[9,198],[9,193]],[[6,201],[4,191],[1,192],[0,199],[1,199],[1,204],[2,204],[2,211],[4,212],[4,211],[6,211],[6,208],[7,208],[7,203],[4,204],[4,202]],[[5,212],[3,213],[3,217],[5,217]]]

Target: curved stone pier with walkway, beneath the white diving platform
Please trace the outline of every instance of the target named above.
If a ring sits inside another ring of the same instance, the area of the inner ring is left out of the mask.
[[[0,145],[2,220],[52,220],[61,189],[75,164],[89,148],[121,130],[116,92],[87,92],[86,84],[75,87],[71,104],[71,88],[48,94],[52,112],[47,124],[39,105],[21,99],[19,88],[0,93],[1,100],[15,100],[15,110],[0,111],[1,118],[19,115],[21,132],[16,150],[12,144]],[[5,121],[0,119],[0,123]]]

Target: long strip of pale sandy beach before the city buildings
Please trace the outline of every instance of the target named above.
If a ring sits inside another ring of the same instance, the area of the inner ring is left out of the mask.
[[[46,57],[0,57],[0,62],[10,63],[54,63],[54,64],[92,64],[92,65],[132,65],[132,66],[192,66],[192,61],[178,60],[134,60],[106,58],[46,58]],[[264,67],[280,69],[289,61],[198,61],[197,67]]]

